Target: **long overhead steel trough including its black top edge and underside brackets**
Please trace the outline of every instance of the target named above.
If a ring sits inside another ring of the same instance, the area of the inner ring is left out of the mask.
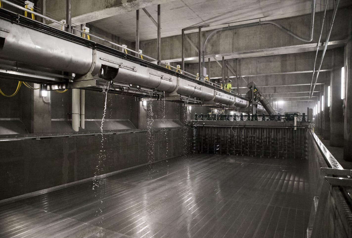
[[[224,107],[244,110],[251,107],[248,99],[210,83],[192,79],[28,18],[20,16],[18,22],[14,23],[4,17],[12,14],[5,10],[0,9],[0,14],[0,25],[4,29],[0,31],[4,43],[1,45],[0,59],[29,64],[31,67],[34,65],[38,71],[46,68],[76,75],[73,82],[68,82],[68,87],[49,85],[49,90],[87,88],[88,83],[80,85],[88,80],[105,79],[152,89],[165,95],[196,98]],[[258,112],[259,110],[260,108]]]

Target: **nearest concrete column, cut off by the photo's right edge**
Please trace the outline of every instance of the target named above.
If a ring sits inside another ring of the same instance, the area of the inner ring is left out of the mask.
[[[350,31],[351,32],[351,31]],[[348,40],[345,48],[346,93],[345,93],[345,121],[344,121],[344,159],[352,161],[352,39]]]

